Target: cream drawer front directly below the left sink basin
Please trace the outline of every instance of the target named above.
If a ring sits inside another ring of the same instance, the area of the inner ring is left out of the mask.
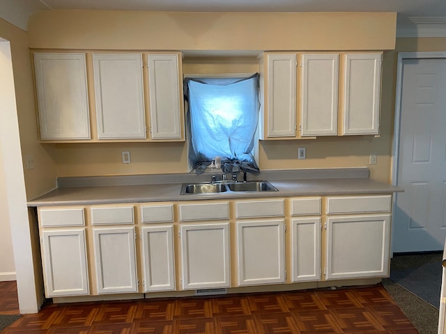
[[[229,202],[181,204],[180,221],[208,221],[229,219]]]

